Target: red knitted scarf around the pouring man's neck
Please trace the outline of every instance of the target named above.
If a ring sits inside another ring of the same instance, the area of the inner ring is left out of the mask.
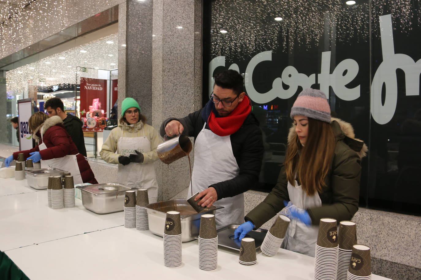
[[[226,117],[216,118],[213,111],[208,118],[210,130],[218,136],[227,136],[237,132],[251,112],[250,100],[247,95],[242,102]]]

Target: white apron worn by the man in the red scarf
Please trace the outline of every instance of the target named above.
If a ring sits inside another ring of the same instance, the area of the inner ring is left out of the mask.
[[[192,183],[188,196],[198,191],[204,191],[210,185],[231,180],[240,171],[234,154],[232,153],[230,136],[218,136],[209,129],[205,129],[196,137],[195,162],[192,173]],[[216,227],[244,222],[244,194],[226,197],[214,202],[225,208],[216,211]]]

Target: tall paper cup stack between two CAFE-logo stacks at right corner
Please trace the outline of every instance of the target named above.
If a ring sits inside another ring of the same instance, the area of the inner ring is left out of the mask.
[[[341,221],[338,232],[339,256],[337,280],[346,280],[349,262],[351,260],[352,246],[357,244],[357,226],[351,221]]]

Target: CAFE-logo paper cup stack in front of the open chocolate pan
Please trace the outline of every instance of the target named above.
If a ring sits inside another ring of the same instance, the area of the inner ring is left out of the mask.
[[[181,217],[180,212],[168,211],[164,228],[164,264],[166,267],[179,267],[181,255]]]

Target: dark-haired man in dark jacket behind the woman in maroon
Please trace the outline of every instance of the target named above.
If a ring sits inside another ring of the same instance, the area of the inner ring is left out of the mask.
[[[63,102],[59,97],[53,97],[48,99],[44,104],[45,111],[47,114],[52,116],[59,116],[63,120],[64,128],[67,133],[72,137],[73,143],[75,143],[77,150],[80,154],[86,157],[85,139],[83,139],[83,122],[80,118],[75,117],[71,114],[66,114],[64,111]]]

